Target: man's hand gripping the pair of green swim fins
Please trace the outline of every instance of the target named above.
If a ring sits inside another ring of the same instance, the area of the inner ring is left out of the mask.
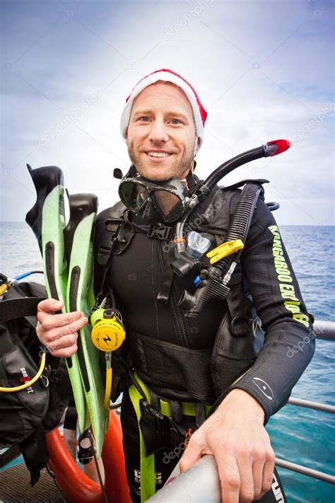
[[[46,299],[37,306],[37,337],[54,357],[71,357],[76,353],[78,330],[88,323],[81,311],[59,313],[63,304],[55,299]]]

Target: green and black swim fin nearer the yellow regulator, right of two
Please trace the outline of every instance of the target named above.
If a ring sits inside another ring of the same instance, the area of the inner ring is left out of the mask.
[[[69,226],[74,223],[69,256],[69,277],[66,306],[69,311],[89,313],[95,304],[93,295],[93,229],[98,210],[98,198],[93,194],[69,195]],[[100,371],[99,350],[90,340],[90,325],[79,331],[78,361],[81,369],[83,390],[90,416],[95,449],[100,457],[108,426],[108,411],[104,407],[105,387]]]

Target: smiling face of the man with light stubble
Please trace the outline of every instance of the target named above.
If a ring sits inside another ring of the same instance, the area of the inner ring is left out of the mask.
[[[184,91],[160,81],[136,96],[127,146],[131,162],[144,178],[158,182],[185,178],[196,141],[193,110]]]

